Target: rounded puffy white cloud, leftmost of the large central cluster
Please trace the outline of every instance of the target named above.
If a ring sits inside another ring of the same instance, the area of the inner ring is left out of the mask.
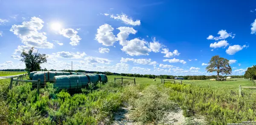
[[[99,42],[102,43],[105,46],[112,46],[116,42],[116,37],[113,34],[113,29],[111,25],[104,24],[101,25],[97,29],[97,34],[95,39]]]

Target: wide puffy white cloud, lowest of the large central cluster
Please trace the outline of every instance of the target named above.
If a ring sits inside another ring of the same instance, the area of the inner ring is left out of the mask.
[[[149,55],[151,49],[145,46],[146,42],[138,38],[132,39],[121,49],[130,56]]]

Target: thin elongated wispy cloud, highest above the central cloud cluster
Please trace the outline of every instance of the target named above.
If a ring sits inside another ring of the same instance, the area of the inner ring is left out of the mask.
[[[108,16],[108,15],[106,15],[106,16]],[[111,15],[110,17],[113,19],[116,19],[116,20],[122,20],[125,24],[140,25],[140,20],[133,21],[133,19],[131,17],[128,17],[126,14],[123,14],[123,13],[116,14],[116,16]]]

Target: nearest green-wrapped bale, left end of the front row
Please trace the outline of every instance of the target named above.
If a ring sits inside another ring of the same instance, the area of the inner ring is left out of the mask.
[[[53,88],[58,89],[69,89],[70,88],[70,82],[67,75],[58,75],[54,76],[53,78]]]

